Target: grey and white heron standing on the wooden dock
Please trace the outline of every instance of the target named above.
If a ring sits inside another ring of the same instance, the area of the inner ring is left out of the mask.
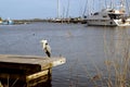
[[[48,40],[41,40],[42,49],[44,50],[46,54],[51,58],[51,47],[48,44]]]

